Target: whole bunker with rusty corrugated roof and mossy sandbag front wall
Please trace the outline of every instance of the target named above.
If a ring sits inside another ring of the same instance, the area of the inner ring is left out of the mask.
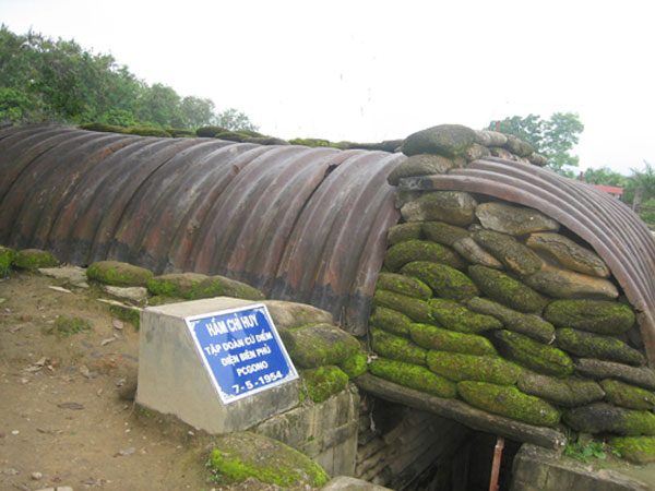
[[[354,379],[355,474],[393,489],[474,489],[496,436],[522,455],[501,472],[516,477],[512,489],[534,460],[520,445],[561,451],[562,428],[652,438],[655,243],[645,225],[534,165],[521,142],[426,131],[427,144],[405,140],[405,155],[7,127],[0,243],[79,265],[221,274],[331,312],[371,344],[369,373]],[[614,313],[600,324],[620,318],[616,330],[575,324],[605,308]],[[610,422],[585,426],[608,411]]]

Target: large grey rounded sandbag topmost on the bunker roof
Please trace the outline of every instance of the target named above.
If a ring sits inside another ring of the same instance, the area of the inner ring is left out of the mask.
[[[440,124],[410,134],[403,142],[405,155],[462,155],[475,142],[475,131],[461,124]]]

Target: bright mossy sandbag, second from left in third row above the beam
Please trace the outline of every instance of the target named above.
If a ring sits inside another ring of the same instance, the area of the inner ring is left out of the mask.
[[[409,333],[412,340],[426,349],[479,356],[498,355],[489,339],[476,334],[456,333],[429,324],[410,324]]]

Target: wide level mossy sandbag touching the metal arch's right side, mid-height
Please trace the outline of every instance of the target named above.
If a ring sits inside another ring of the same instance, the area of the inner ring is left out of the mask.
[[[558,327],[573,327],[596,334],[622,334],[634,324],[629,306],[609,300],[555,300],[544,310],[544,318]]]

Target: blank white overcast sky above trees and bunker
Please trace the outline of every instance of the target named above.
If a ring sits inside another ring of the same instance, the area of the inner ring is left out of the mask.
[[[655,165],[652,0],[0,0],[263,133],[376,142],[577,112],[581,168]]]

